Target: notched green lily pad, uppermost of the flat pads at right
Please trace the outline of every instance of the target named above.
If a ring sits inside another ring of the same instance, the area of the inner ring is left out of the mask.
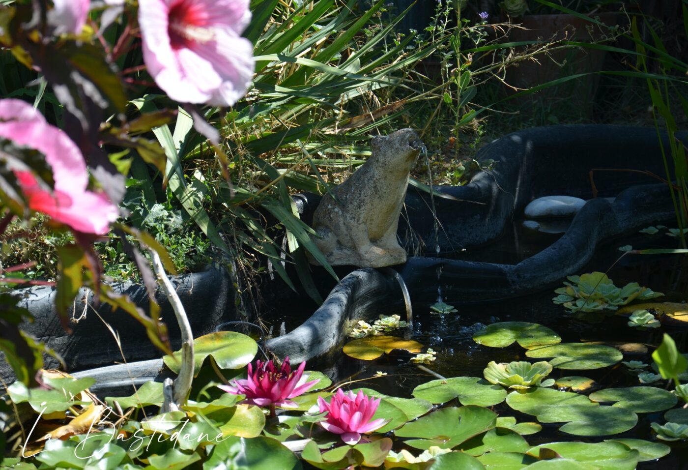
[[[546,326],[525,321],[504,321],[488,325],[482,332],[473,335],[473,341],[491,348],[506,348],[514,341],[524,348],[546,344],[557,344],[561,337]]]

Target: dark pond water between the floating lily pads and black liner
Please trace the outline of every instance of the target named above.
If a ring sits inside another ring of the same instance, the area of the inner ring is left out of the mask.
[[[504,235],[492,244],[466,250],[457,253],[457,259],[471,261],[489,261],[505,264],[513,264],[538,253],[546,248],[559,237],[557,234],[533,233],[524,228],[520,221],[514,222],[509,226]],[[596,250],[592,261],[585,266],[581,273],[592,273],[593,271],[608,271],[608,276],[613,279],[616,286],[625,286],[630,282],[638,282],[641,286],[656,291],[663,292],[665,297],[648,302],[672,301],[681,302],[685,300],[682,292],[685,292],[685,259],[680,255],[624,255],[619,248],[630,245],[634,249],[648,248],[676,248],[677,239],[667,235],[665,228],[660,228],[658,233],[647,235],[645,233],[632,233],[623,239],[616,239],[607,242]],[[621,258],[621,259],[620,259]],[[563,281],[563,279],[562,279]],[[443,284],[442,275],[438,279],[428,279],[428,288],[438,290],[438,295],[442,296]],[[671,332],[671,336],[676,340],[678,350],[687,350],[687,334],[679,325],[662,325],[661,328],[631,328],[628,323],[629,314],[625,315],[604,315],[596,312],[587,318],[579,318],[576,315],[566,313],[562,305],[552,302],[555,297],[554,288],[543,286],[541,292],[526,297],[515,299],[502,299],[485,303],[462,303],[462,299],[441,297],[458,310],[455,313],[433,314],[427,304],[413,304],[413,325],[410,328],[402,328],[391,334],[402,337],[405,340],[418,341],[426,348],[431,348],[436,352],[435,359],[424,365],[418,365],[409,361],[414,355],[404,350],[393,350],[389,354],[381,356],[374,361],[363,361],[353,359],[340,354],[336,357],[334,365],[325,370],[334,383],[347,383],[347,387],[364,387],[374,389],[382,394],[398,396],[402,398],[427,398],[419,389],[426,387],[429,381],[440,381],[438,376],[444,378],[453,377],[475,377],[483,378],[484,370],[491,361],[496,363],[509,363],[511,361],[547,361],[550,356],[543,356],[544,359],[531,359],[526,356],[526,349],[518,343],[513,343],[503,348],[494,348],[485,344],[480,344],[473,339],[475,334],[480,334],[486,325],[502,322],[528,322],[537,323],[550,328],[561,337],[561,343],[599,343],[608,345],[616,350],[623,352],[623,361],[639,361],[646,366],[639,372],[656,373],[653,370],[652,351],[658,346],[663,337],[663,332]],[[559,287],[559,286],[555,286]],[[632,304],[631,304],[632,305]],[[369,323],[375,319],[375,313],[371,312],[372,317]],[[385,312],[389,314],[389,312]],[[397,312],[404,317],[404,312]],[[289,318],[287,313],[282,319]],[[592,321],[590,321],[592,319]],[[288,326],[285,323],[280,323]],[[295,322],[295,323],[298,323]],[[687,330],[688,331],[688,330]],[[649,346],[649,348],[648,348]],[[641,383],[638,379],[638,370],[632,370],[621,361],[612,361],[608,367],[600,367],[589,370],[563,369],[555,367],[547,376],[557,381],[554,389],[572,390],[566,387],[566,381],[562,378],[571,376],[590,379],[590,383],[577,390],[583,395],[590,395],[603,389],[628,389],[628,387],[638,387],[634,390],[643,392],[649,387],[658,389],[672,389],[673,386],[667,381],[655,381],[654,383]],[[583,381],[588,382],[588,381]],[[450,382],[451,383],[451,382]],[[669,384],[669,385],[667,385]],[[665,386],[666,385],[666,386]],[[417,387],[419,387],[417,389]],[[643,387],[641,390],[640,387]],[[511,392],[511,390],[508,390]],[[661,393],[667,398],[668,392]],[[594,395],[593,395],[594,396]],[[613,397],[612,397],[613,398]],[[605,398],[600,400],[605,408],[613,408],[619,398]],[[559,441],[581,441],[581,442],[603,442],[611,439],[643,439],[654,442],[665,442],[656,439],[650,427],[651,423],[665,423],[663,414],[665,409],[674,407],[676,400],[668,396],[665,405],[656,406],[656,410],[643,412],[641,405],[628,405],[632,412],[638,410],[637,424],[626,426],[621,432],[604,436],[587,436],[591,432],[585,429],[576,429],[576,423],[571,423],[570,418],[561,418],[559,422],[548,423],[548,419],[543,418],[540,425],[541,431],[524,436],[529,445],[539,445],[547,442]],[[455,398],[446,403],[438,405],[460,406]],[[509,405],[507,405],[509,403]],[[464,405],[466,403],[463,403]],[[510,406],[511,405],[511,406]],[[518,409],[515,409],[518,408]],[[537,423],[533,413],[522,412],[527,407],[519,407],[507,401],[498,403],[490,407],[504,416],[513,416],[518,423]],[[538,416],[542,418],[541,416]],[[557,418],[555,418],[556,420]],[[592,417],[594,426],[599,427],[609,418],[601,415]],[[561,431],[560,428],[568,425],[571,433]],[[584,426],[583,426],[584,427]],[[669,444],[671,444],[669,442]],[[398,449],[396,449],[398,450]],[[688,462],[688,450],[680,445],[672,445],[671,453],[660,460],[649,460],[638,464],[639,469],[654,468],[678,468]],[[667,467],[668,466],[668,467]]]

